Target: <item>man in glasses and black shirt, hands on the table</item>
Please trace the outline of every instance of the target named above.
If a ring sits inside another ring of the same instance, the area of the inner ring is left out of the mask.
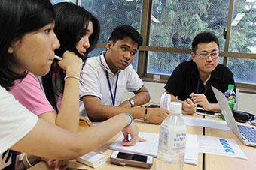
[[[164,87],[166,93],[171,95],[172,101],[181,102],[187,114],[194,114],[197,106],[221,112],[211,85],[224,93],[227,86],[235,82],[230,69],[218,64],[218,38],[211,32],[197,34],[192,49],[192,60],[175,68]]]

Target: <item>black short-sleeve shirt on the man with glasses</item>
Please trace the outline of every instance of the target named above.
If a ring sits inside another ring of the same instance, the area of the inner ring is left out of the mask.
[[[229,84],[235,85],[233,73],[223,64],[218,64],[215,70],[212,71],[210,79],[206,82],[206,91],[200,79],[199,92],[197,93],[198,79],[197,64],[192,60],[185,61],[175,68],[164,88],[182,101],[190,98],[189,95],[194,92],[195,94],[205,94],[209,103],[218,103],[211,85],[223,93],[227,91]]]

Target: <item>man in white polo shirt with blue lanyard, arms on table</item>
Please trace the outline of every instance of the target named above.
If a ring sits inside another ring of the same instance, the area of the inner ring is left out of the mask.
[[[91,121],[105,121],[119,113],[128,112],[133,118],[160,124],[169,114],[163,108],[134,107],[148,103],[150,95],[131,62],[142,36],[130,25],[114,28],[107,43],[107,51],[98,57],[88,58],[81,71],[81,115],[87,114]],[[135,94],[122,103],[125,91]],[[85,109],[84,109],[85,107]]]

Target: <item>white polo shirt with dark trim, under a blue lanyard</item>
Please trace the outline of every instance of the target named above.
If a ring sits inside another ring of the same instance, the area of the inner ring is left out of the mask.
[[[119,70],[115,74],[112,73],[105,61],[104,55],[105,52],[102,52],[102,54],[97,57],[87,59],[87,62],[81,71],[79,96],[81,100],[83,100],[84,96],[98,97],[101,100],[101,105],[113,106],[105,71],[107,70],[113,97],[117,82],[114,106],[119,106],[123,101],[125,91],[139,91],[139,89],[143,87],[143,82],[135,70],[133,70],[132,64],[124,70]],[[117,80],[118,74],[119,76]],[[80,113],[81,115],[86,115],[84,104],[80,104]]]

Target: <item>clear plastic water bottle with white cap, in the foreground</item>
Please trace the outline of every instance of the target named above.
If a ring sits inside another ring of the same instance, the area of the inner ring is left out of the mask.
[[[157,170],[183,169],[187,126],[181,117],[181,103],[171,102],[169,112],[160,126]]]

